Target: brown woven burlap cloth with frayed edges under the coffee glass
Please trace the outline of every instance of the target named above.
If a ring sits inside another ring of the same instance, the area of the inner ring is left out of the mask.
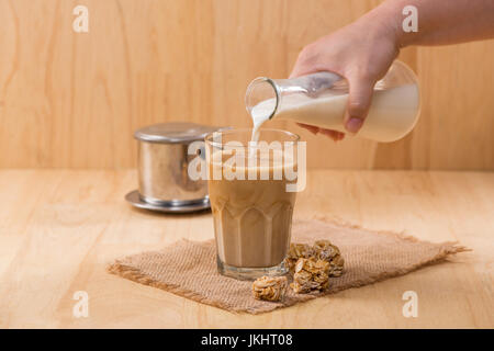
[[[257,301],[251,295],[251,282],[218,274],[213,240],[183,239],[160,251],[116,260],[108,270],[229,312],[259,314],[402,275],[468,250],[454,242],[433,244],[396,233],[371,231],[335,219],[293,223],[292,241],[312,244],[317,239],[328,239],[339,247],[345,258],[344,274],[330,279],[330,286],[324,293],[294,294],[289,287],[280,303]]]

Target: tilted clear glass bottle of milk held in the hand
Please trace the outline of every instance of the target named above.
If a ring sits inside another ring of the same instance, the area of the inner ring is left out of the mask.
[[[245,97],[255,128],[267,120],[280,118],[344,133],[347,100],[347,80],[333,72],[292,79],[256,78]],[[401,139],[414,128],[419,110],[417,77],[395,60],[375,83],[369,114],[357,136],[383,143]]]

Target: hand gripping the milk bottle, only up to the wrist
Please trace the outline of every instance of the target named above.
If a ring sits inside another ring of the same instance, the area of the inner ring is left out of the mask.
[[[345,77],[349,83],[349,98],[344,124],[349,133],[356,134],[369,112],[375,82],[386,73],[400,52],[395,31],[395,26],[383,24],[382,19],[378,21],[371,11],[305,46],[290,78],[317,71],[332,71]],[[341,132],[299,125],[335,141],[345,137]]]

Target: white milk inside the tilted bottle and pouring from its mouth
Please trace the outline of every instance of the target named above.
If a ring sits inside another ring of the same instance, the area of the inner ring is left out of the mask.
[[[322,94],[316,99],[303,94],[284,95],[274,117],[319,126],[346,133],[344,114],[348,93]],[[250,111],[254,122],[252,141],[259,137],[259,127],[269,120],[276,99],[261,101]],[[416,84],[389,90],[374,90],[369,114],[358,135],[378,141],[394,141],[415,126],[419,109]]]

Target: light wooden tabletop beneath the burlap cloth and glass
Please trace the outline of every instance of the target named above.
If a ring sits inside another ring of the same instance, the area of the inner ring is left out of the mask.
[[[0,171],[0,328],[494,327],[494,173],[312,171],[296,216],[330,214],[473,252],[259,316],[235,315],[108,274],[108,262],[213,237],[211,214],[159,215],[123,197],[135,172]],[[72,316],[74,294],[89,317]],[[405,318],[402,295],[418,295]]]

